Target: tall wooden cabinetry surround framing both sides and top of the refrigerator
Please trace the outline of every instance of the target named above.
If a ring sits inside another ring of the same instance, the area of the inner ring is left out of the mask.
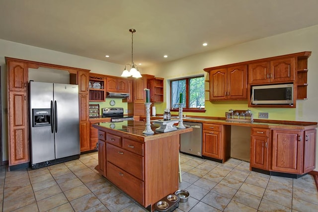
[[[28,119],[28,69],[39,67],[69,71],[70,83],[79,85],[79,137],[81,149],[84,141],[89,142],[88,122],[88,72],[90,70],[46,64],[5,57],[8,88],[8,163],[9,169],[15,165],[28,165],[29,119]]]

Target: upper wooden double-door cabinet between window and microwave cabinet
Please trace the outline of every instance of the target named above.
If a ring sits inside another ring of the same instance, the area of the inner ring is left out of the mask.
[[[210,71],[210,100],[246,99],[246,77],[246,66]]]

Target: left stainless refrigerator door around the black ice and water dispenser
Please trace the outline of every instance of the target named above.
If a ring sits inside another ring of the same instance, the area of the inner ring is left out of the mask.
[[[53,102],[53,83],[29,83],[31,164],[55,159],[54,133],[51,126],[32,127],[32,109],[49,109]]]

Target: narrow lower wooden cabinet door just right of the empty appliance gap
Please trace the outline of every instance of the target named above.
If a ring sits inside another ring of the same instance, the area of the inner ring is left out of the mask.
[[[252,136],[250,166],[268,170],[269,142],[267,137]]]

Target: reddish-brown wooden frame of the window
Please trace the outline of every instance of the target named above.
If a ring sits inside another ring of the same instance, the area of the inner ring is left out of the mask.
[[[178,79],[171,79],[170,80],[170,107],[172,106],[172,94],[171,94],[171,91],[172,91],[172,82],[173,81],[179,81],[179,80],[185,80],[185,107],[183,107],[183,112],[198,112],[198,113],[205,113],[205,107],[201,107],[201,108],[190,108],[189,107],[189,98],[190,98],[190,92],[189,92],[189,89],[190,89],[190,79],[193,79],[193,78],[199,78],[199,77],[203,77],[204,79],[204,75],[197,75],[197,76],[190,76],[190,77],[184,77],[184,78],[178,78]],[[204,101],[205,101],[205,98],[204,98]],[[173,112],[178,112],[179,109],[176,108],[176,109],[173,109],[171,107],[170,111],[173,111]]]

